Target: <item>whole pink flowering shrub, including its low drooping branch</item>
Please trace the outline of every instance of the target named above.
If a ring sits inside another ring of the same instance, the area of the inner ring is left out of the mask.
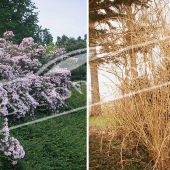
[[[40,58],[59,56],[65,50],[56,49],[47,54],[46,49],[34,43],[32,37],[24,38],[20,45],[16,45],[8,40],[13,36],[12,31],[7,31],[5,38],[0,38],[0,116],[14,114],[18,119],[26,114],[32,116],[37,106],[42,105],[58,112],[66,105],[65,99],[69,96],[70,71],[56,67],[52,74],[36,73],[42,67]],[[0,150],[12,164],[25,155],[18,140],[9,138],[7,118],[3,123]]]

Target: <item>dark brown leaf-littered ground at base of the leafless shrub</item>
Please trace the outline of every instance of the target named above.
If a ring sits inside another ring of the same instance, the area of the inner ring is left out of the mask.
[[[139,143],[136,149],[132,135],[124,141],[123,154],[121,155],[121,143],[126,135],[123,129],[101,129],[90,127],[90,170],[151,170],[152,159],[145,147]]]

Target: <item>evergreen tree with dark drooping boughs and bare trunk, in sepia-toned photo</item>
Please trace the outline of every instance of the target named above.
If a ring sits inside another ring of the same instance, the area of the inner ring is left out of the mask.
[[[117,18],[126,18],[127,16],[132,16],[127,13],[127,11],[122,11],[123,7],[130,7],[133,4],[139,6],[147,6],[149,0],[90,0],[89,2],[89,46],[90,53],[95,54],[94,48],[98,45],[104,46],[109,50],[109,44],[103,43],[107,39],[108,35],[111,34],[112,37],[115,36],[108,29],[103,29],[100,27],[97,29],[97,26],[101,26],[101,24],[107,25],[109,29],[116,29],[110,21],[115,21]],[[130,12],[130,11],[129,11]],[[131,26],[131,25],[130,25]],[[131,26],[133,27],[133,26]],[[119,35],[119,34],[118,34]],[[113,45],[114,44],[114,45]],[[112,42],[112,46],[116,47],[115,43]],[[91,50],[92,49],[92,50]],[[106,51],[105,49],[105,51]],[[112,49],[113,50],[113,49]],[[94,55],[91,55],[94,57]],[[96,56],[95,56],[96,57]],[[134,59],[134,58],[133,58]],[[132,59],[132,60],[133,60]],[[90,59],[91,60],[91,59]],[[103,61],[105,62],[105,61]],[[99,91],[99,83],[94,82],[93,80],[98,80],[98,64],[96,62],[94,67],[94,61],[90,62],[91,69],[91,80],[92,80],[92,104],[100,102],[100,91]],[[95,103],[94,103],[95,101]],[[98,107],[98,109],[96,109]],[[99,106],[95,106],[92,108],[92,115],[100,115],[101,108]]]

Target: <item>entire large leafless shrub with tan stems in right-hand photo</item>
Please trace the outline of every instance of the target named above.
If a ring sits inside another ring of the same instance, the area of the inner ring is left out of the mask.
[[[149,9],[140,9],[135,17],[132,11],[135,13],[137,8],[125,6],[123,12],[128,17],[118,18],[121,27],[119,34],[115,32],[115,35],[121,35],[117,37],[119,44],[121,42],[123,47],[127,47],[169,36],[169,20],[166,16],[170,11],[169,4],[169,0],[153,1]],[[114,39],[113,42],[113,48],[109,50],[122,48],[119,44],[115,45]],[[169,40],[160,40],[116,56],[119,62],[114,63],[112,72],[121,82],[118,86],[122,95],[136,92],[104,108],[105,114],[112,113],[116,133],[120,129],[124,132],[119,143],[122,169],[125,169],[126,162],[124,152],[134,148],[139,152],[141,146],[149,154],[150,163],[153,162],[152,169],[170,169],[170,85],[165,85],[170,83],[169,47]],[[107,52],[105,50],[108,49],[102,50]]]

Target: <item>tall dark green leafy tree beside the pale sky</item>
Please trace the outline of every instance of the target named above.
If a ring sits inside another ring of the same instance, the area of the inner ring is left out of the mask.
[[[0,1],[0,35],[13,31],[14,42],[20,43],[24,37],[36,37],[38,13],[31,0]]]

